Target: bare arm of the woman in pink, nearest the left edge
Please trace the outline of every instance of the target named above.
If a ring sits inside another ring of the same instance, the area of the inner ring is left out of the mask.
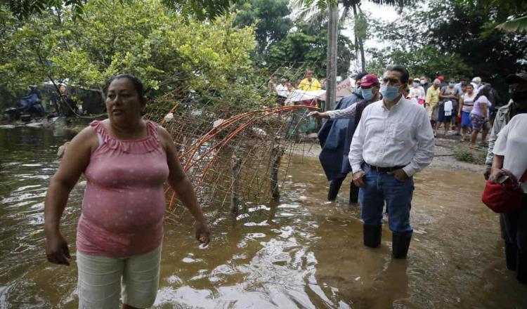
[[[82,130],[67,145],[58,171],[51,178],[44,204],[44,233],[46,234],[46,256],[56,264],[70,265],[70,251],[60,234],[60,217],[67,204],[70,191],[89,163],[91,152],[98,146],[97,136],[91,128]]]

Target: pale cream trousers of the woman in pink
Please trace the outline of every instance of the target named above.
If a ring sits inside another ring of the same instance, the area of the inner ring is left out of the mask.
[[[149,308],[160,282],[161,246],[129,258],[91,256],[77,251],[79,308],[116,309],[122,303]]]

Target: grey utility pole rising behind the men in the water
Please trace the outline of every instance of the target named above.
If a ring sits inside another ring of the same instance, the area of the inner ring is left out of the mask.
[[[328,1],[327,13],[327,71],[326,71],[326,104],[325,110],[334,110],[337,98],[337,27],[339,19],[339,4],[337,0]]]

